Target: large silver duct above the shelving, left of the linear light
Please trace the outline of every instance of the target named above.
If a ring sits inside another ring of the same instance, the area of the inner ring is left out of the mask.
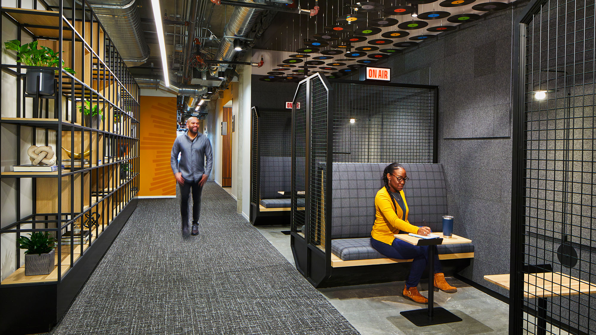
[[[95,15],[118,49],[126,66],[139,66],[149,58],[137,0],[88,0]],[[142,5],[142,3],[140,3]]]

